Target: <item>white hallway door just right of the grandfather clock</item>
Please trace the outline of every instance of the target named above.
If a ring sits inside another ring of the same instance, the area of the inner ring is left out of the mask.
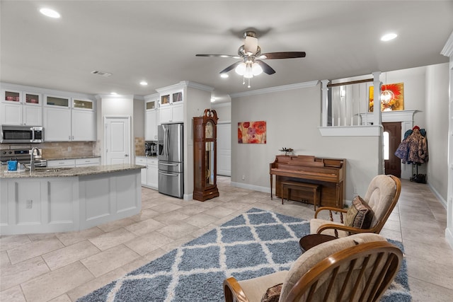
[[[217,175],[231,176],[231,122],[217,124]]]

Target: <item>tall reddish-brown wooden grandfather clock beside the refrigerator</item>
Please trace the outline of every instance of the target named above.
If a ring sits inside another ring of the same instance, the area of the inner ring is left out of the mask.
[[[193,118],[193,199],[219,196],[217,189],[217,112],[206,109]]]

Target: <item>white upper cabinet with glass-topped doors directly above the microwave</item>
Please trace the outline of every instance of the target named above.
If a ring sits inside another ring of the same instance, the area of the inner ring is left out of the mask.
[[[40,93],[1,90],[0,124],[42,126]]]

